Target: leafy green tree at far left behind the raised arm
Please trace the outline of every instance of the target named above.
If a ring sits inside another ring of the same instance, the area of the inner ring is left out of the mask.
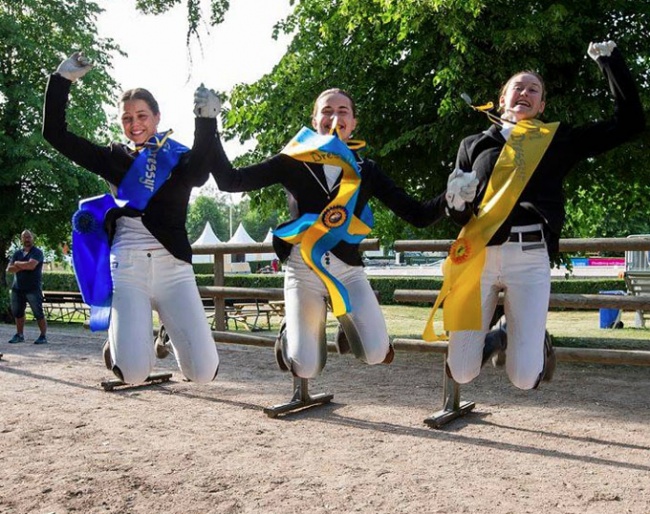
[[[69,220],[80,197],[104,189],[94,175],[62,157],[41,137],[43,92],[48,74],[75,49],[83,49],[95,70],[75,85],[71,129],[108,139],[102,108],[113,100],[108,76],[112,41],[97,37],[99,7],[90,1],[0,0],[0,310],[7,252],[20,232],[32,230],[39,245],[58,248],[70,238]]]

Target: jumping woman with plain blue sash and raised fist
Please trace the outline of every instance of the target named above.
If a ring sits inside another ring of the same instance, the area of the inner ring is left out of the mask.
[[[146,89],[120,98],[124,135],[132,143],[100,146],[68,131],[71,85],[92,65],[81,53],[64,60],[45,94],[43,136],[75,163],[104,178],[111,193],[82,200],[74,214],[72,254],[77,282],[90,305],[92,330],[108,330],[107,367],[125,383],[153,369],[152,309],[171,339],[181,372],[210,382],[219,356],[192,269],[185,230],[192,188],[209,177],[205,156],[214,128],[196,113],[194,146],[158,132],[158,103]]]

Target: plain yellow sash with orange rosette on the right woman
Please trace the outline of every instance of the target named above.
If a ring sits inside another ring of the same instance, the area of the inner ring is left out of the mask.
[[[433,317],[444,301],[445,331],[481,330],[481,275],[485,247],[519,200],[559,123],[524,120],[515,125],[494,165],[478,214],[461,230],[443,263],[443,284],[422,335],[425,341],[446,339],[436,334]]]

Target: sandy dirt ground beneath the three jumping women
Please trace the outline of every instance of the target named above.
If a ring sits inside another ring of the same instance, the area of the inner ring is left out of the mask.
[[[269,418],[292,380],[269,348],[218,345],[219,377],[105,392],[102,334],[0,325],[0,513],[650,512],[650,370],[560,363],[538,391],[486,368],[442,430],[442,358],[330,354],[326,405]]]

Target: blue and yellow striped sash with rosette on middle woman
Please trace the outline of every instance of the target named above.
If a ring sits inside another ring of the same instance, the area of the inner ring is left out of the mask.
[[[323,281],[332,301],[332,311],[340,317],[352,310],[345,286],[322,265],[321,260],[341,241],[358,244],[372,229],[372,211],[365,205],[360,217],[354,214],[361,170],[354,153],[336,135],[323,136],[303,128],[287,144],[282,153],[299,161],[330,164],[342,169],[336,197],[320,214],[303,214],[300,218],[277,228],[274,235],[284,241],[300,244],[300,254],[307,265]]]

